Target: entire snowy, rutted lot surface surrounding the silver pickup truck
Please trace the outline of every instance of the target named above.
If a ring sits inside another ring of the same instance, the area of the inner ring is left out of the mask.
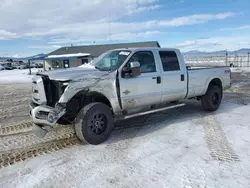
[[[101,145],[73,142],[63,149],[51,144],[74,138],[72,127],[38,139],[28,117],[30,85],[2,84],[0,164],[14,162],[0,168],[0,187],[250,187],[248,71],[232,69],[233,86],[216,112],[191,100],[118,123]]]

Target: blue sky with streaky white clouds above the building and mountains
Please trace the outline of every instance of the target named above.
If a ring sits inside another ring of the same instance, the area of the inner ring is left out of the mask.
[[[157,40],[182,51],[250,48],[250,0],[1,0],[0,56]]]

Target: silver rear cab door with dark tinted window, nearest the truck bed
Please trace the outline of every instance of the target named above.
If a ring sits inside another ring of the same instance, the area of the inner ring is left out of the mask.
[[[184,99],[187,93],[185,66],[175,51],[158,53],[162,65],[162,102]]]

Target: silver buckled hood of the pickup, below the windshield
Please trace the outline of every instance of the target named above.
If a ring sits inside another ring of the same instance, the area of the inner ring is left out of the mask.
[[[95,69],[92,65],[82,65],[75,68],[67,68],[67,69],[59,69],[53,71],[46,71],[43,73],[39,73],[37,75],[46,75],[51,80],[58,80],[58,81],[77,81],[77,80],[84,80],[84,79],[96,79],[101,78],[104,75],[107,75],[108,72],[106,71],[99,71]]]

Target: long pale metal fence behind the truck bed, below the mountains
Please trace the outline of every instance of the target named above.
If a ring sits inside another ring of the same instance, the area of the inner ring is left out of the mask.
[[[250,67],[250,53],[246,55],[224,56],[184,56],[186,64],[199,66]]]

